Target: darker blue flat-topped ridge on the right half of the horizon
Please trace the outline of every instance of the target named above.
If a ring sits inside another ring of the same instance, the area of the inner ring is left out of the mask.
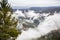
[[[53,7],[30,7],[29,10],[34,10],[37,12],[55,12],[60,11],[60,6],[53,6]]]

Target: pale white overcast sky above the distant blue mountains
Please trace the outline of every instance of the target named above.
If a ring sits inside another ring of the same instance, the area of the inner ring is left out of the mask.
[[[12,6],[60,6],[60,0],[9,0]]]

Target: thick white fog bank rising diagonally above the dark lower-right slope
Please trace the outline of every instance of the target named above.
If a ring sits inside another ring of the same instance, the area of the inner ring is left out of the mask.
[[[32,12],[32,14],[34,13]],[[30,14],[31,17],[32,14]],[[48,14],[43,15],[46,16]],[[57,30],[59,28],[60,28],[60,13],[54,13],[54,15],[46,16],[45,20],[41,22],[37,27],[28,28],[26,31],[21,30],[22,33],[18,35],[16,40],[36,40],[37,38],[48,34],[52,30]]]

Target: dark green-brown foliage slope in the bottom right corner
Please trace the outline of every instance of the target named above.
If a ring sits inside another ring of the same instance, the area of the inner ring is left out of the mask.
[[[48,33],[37,40],[60,40],[60,29],[53,30],[52,32]]]

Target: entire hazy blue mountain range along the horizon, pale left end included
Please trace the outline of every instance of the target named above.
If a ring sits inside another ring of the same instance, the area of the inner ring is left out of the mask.
[[[33,10],[36,13],[54,13],[55,11],[59,12],[60,11],[60,6],[50,6],[50,7],[22,7],[22,6],[14,6],[12,7],[13,11],[16,11],[17,9],[21,11],[28,11],[28,10]]]

